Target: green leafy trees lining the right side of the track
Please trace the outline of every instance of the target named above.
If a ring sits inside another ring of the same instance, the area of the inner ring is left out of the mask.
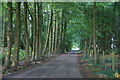
[[[84,57],[94,64],[109,64],[113,71],[120,70],[120,2],[76,3],[76,6],[77,9],[71,10],[76,14],[67,29],[68,35],[72,35],[69,42],[77,44]]]

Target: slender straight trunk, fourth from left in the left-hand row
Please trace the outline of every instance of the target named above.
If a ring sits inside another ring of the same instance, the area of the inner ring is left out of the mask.
[[[35,55],[36,55],[36,2],[34,2],[34,40],[33,40],[33,61],[35,61]]]

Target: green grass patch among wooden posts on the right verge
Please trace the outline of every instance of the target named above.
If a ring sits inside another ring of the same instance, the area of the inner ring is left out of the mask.
[[[90,68],[94,73],[100,74],[100,75],[105,75],[108,78],[115,78],[114,74],[115,72],[112,71],[112,58],[110,55],[106,55],[107,57],[105,58],[105,64],[99,63],[99,64],[94,64],[93,58],[83,58],[83,60],[87,61],[86,64],[88,68]],[[102,59],[101,59],[102,60]],[[118,59],[115,57],[115,63],[117,63]],[[100,61],[102,62],[102,61]],[[91,64],[91,65],[89,65]],[[109,67],[106,65],[110,65]],[[117,64],[115,64],[115,67]],[[117,67],[116,67],[117,68]]]

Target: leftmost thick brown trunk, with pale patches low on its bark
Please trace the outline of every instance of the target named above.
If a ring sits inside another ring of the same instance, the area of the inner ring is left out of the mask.
[[[11,56],[11,43],[12,43],[12,2],[8,2],[8,31],[7,31],[7,44],[8,51],[6,56],[6,67],[10,67],[10,56]]]

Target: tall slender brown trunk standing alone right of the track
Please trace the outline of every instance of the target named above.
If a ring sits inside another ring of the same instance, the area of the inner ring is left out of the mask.
[[[94,47],[94,61],[97,63],[97,53],[96,53],[96,2],[94,2],[94,18],[93,18],[93,47]]]

